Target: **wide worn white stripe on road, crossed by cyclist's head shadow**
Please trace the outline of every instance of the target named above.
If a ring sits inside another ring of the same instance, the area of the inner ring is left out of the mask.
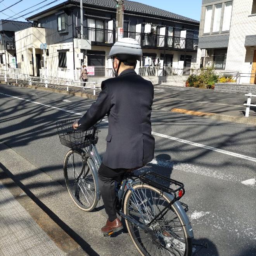
[[[202,166],[195,166],[193,164],[187,164],[187,163],[179,163],[179,162],[173,162],[170,160],[165,160],[165,159],[153,159],[150,163],[153,165],[161,166],[164,168],[170,168],[174,170],[179,170],[183,171],[186,173],[194,173],[197,175],[203,175],[206,177],[211,177],[214,179],[219,179],[219,180],[225,180],[225,181],[230,181],[230,182],[237,182],[237,183],[243,183],[242,180],[246,178],[246,176],[239,175],[232,175],[228,174],[227,172],[223,172],[221,170],[213,170],[209,168],[205,168]],[[149,166],[145,166],[144,169],[147,169]],[[252,182],[251,182],[252,183]],[[244,185],[250,185],[251,187],[254,187],[251,183],[243,183]]]

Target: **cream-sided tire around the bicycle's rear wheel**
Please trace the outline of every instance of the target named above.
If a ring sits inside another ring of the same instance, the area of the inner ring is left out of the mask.
[[[153,192],[155,192],[155,193],[157,193],[158,195],[160,195],[161,197],[163,197],[163,199],[164,200],[166,200],[166,202],[167,203],[170,203],[171,202],[171,199],[170,198],[168,198],[168,196],[167,195],[165,195],[165,194],[163,194],[160,190],[158,190],[158,189],[156,189],[156,188],[154,188],[154,187],[152,187],[152,186],[150,186],[150,185],[147,185],[147,184],[135,184],[134,186],[133,186],[133,189],[135,190],[135,192],[137,191],[137,190],[145,190],[145,189],[148,189],[148,190],[151,190],[151,191],[153,191]],[[151,194],[152,194],[152,192],[151,192]],[[132,192],[131,192],[131,190],[128,190],[127,191],[127,193],[126,193],[126,195],[125,195],[125,198],[124,198],[124,201],[123,201],[123,212],[124,212],[124,214],[126,214],[126,215],[128,215],[128,216],[130,216],[130,217],[132,217],[131,215],[130,215],[130,211],[129,211],[129,206],[130,206],[130,199],[131,199],[131,196],[132,196]],[[154,201],[154,200],[152,200],[152,201]],[[146,202],[146,206],[147,206],[147,202]],[[176,256],[176,255],[182,255],[182,256],[190,256],[190,255],[192,255],[192,239],[189,237],[189,235],[187,234],[187,231],[186,231],[186,229],[185,229],[185,225],[184,225],[184,222],[183,222],[183,220],[182,220],[182,217],[181,217],[181,214],[179,213],[179,211],[180,210],[178,210],[178,209],[176,209],[175,208],[175,205],[171,205],[171,211],[174,213],[174,214],[176,214],[176,216],[177,216],[177,218],[178,218],[178,220],[180,221],[180,226],[179,227],[182,227],[182,231],[183,231],[183,235],[184,235],[184,239],[182,240],[182,239],[180,239],[180,240],[178,240],[178,242],[180,242],[181,243],[181,241],[182,242],[184,242],[184,244],[185,244],[185,250],[184,250],[184,253],[183,254],[179,254],[179,253],[170,253],[170,251],[168,251],[168,253],[166,254],[162,254],[162,253],[159,253],[159,254],[156,254],[156,255],[173,255],[173,256]],[[170,210],[169,210],[170,211]],[[166,213],[166,214],[168,214],[168,213]],[[166,215],[165,215],[166,216]],[[131,237],[131,240],[132,240],[132,242],[133,242],[133,244],[135,245],[135,247],[137,248],[137,250],[138,250],[138,252],[141,254],[141,255],[151,255],[149,252],[148,252],[148,249],[147,248],[145,248],[145,246],[143,245],[142,246],[142,240],[141,239],[144,239],[144,238],[140,238],[140,241],[138,240],[139,239],[139,237],[137,237],[137,235],[138,235],[138,233],[140,232],[139,231],[139,229],[138,229],[138,232],[137,233],[135,233],[134,231],[133,231],[133,226],[135,226],[133,223],[131,223],[130,221],[128,221],[128,220],[125,220],[125,223],[126,223],[126,227],[127,227],[127,229],[128,229],[128,232],[129,232],[129,234],[130,234],[130,237]],[[132,226],[133,225],[133,226]],[[152,225],[152,226],[154,226],[154,225]],[[156,226],[156,225],[155,225]],[[160,225],[161,226],[161,225]],[[142,231],[143,232],[143,231]],[[158,231],[157,231],[158,232]],[[160,230],[160,232],[161,232],[161,234],[163,235],[163,232]],[[160,234],[160,232],[159,232],[159,234]],[[170,231],[169,231],[170,232]],[[180,232],[180,231],[179,231]],[[170,234],[171,233],[171,234]],[[175,240],[177,240],[178,239],[178,237],[180,237],[179,235],[177,235],[176,234],[176,237],[174,237],[173,236],[173,233],[174,232],[170,232],[170,233],[168,233],[167,232],[167,234],[168,234],[168,237],[167,237],[167,239],[170,239],[171,237],[173,237],[173,239]],[[147,233],[145,233],[145,234],[147,234]],[[164,236],[164,235],[163,235]],[[152,237],[150,237],[150,239],[152,239]],[[166,238],[163,238],[164,239],[164,242],[166,242]],[[159,239],[158,239],[159,240]],[[173,240],[173,241],[174,241]],[[154,243],[152,243],[152,247],[153,247],[153,244]],[[172,246],[173,246],[173,248],[175,247],[175,242],[173,243],[173,242],[169,242],[168,244],[171,244]],[[166,243],[166,246],[168,246],[168,244]],[[150,245],[149,245],[150,246]],[[156,246],[157,247],[157,246]],[[172,248],[172,249],[173,249]],[[177,248],[177,247],[176,247]],[[175,251],[177,251],[177,249],[176,248],[174,248],[175,249]],[[158,248],[159,249],[159,248]],[[170,250],[170,247],[168,248],[169,250]],[[165,249],[166,250],[166,249]],[[154,255],[155,255],[155,253],[154,253]]]

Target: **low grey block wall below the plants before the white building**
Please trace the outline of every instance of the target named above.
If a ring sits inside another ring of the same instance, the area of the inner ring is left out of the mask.
[[[256,94],[256,85],[254,84],[237,85],[234,83],[216,83],[214,86],[214,91]]]

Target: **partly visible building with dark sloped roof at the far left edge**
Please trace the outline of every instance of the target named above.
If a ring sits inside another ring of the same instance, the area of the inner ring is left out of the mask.
[[[16,68],[15,31],[31,27],[29,22],[0,20],[0,68]]]

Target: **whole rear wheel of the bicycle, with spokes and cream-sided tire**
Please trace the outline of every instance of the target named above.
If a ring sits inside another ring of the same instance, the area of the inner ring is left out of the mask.
[[[125,195],[124,213],[142,225],[148,224],[171,202],[166,195],[149,185],[137,184],[133,189],[134,192],[128,190]],[[190,256],[192,253],[192,240],[174,205],[149,226],[150,231],[142,230],[130,221],[125,222],[131,240],[141,255]]]

